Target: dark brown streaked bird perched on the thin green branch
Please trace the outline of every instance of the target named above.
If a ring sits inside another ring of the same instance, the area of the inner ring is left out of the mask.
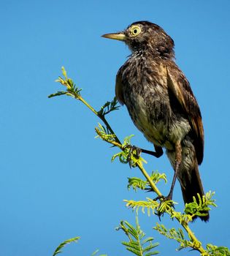
[[[204,157],[202,114],[190,83],[175,63],[174,40],[147,20],[101,37],[123,41],[131,50],[116,75],[115,95],[153,143],[155,151],[142,151],[161,157],[165,148],[175,171],[166,200],[172,200],[178,179],[184,203],[193,202],[193,197],[199,202],[197,193],[204,195],[198,167]],[[207,222],[210,215],[204,211],[199,218]]]

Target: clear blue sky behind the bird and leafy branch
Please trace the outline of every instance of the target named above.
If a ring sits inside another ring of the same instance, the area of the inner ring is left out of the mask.
[[[202,110],[204,189],[216,192],[218,204],[210,222],[198,220],[192,228],[204,245],[229,246],[229,12],[228,0],[1,1],[1,255],[52,255],[73,236],[81,240],[64,255],[91,255],[96,249],[129,255],[115,227],[121,219],[134,223],[123,199],[150,196],[126,189],[127,177],[140,176],[139,171],[110,162],[117,150],[94,139],[99,120],[85,106],[47,95],[61,89],[54,80],[64,66],[96,109],[112,99],[116,72],[129,49],[100,36],[137,20],[158,23],[175,39],[177,64]],[[152,148],[126,108],[109,119],[120,138],[134,134],[135,145]],[[148,170],[166,172],[171,182],[165,156],[145,158]],[[161,189],[166,194],[169,185]],[[178,183],[174,200],[182,209]],[[158,219],[140,215],[147,235],[161,243],[161,255],[198,255],[175,252],[174,241],[152,230]],[[176,225],[168,217],[164,223]]]

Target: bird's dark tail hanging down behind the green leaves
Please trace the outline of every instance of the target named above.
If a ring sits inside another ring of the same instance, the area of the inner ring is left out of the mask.
[[[187,145],[188,146],[188,145]],[[199,203],[199,194],[201,197],[204,195],[204,189],[202,186],[202,180],[199,176],[199,169],[196,160],[196,154],[193,146],[183,147],[182,162],[178,170],[178,180],[185,203],[192,203],[193,197],[196,197],[196,201]],[[167,155],[170,159],[172,166],[175,163],[175,154],[167,151]],[[210,218],[208,211],[203,211],[205,216],[199,217],[204,222],[207,222]]]

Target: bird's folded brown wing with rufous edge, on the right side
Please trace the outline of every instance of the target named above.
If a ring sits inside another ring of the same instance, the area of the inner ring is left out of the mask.
[[[166,72],[167,86],[178,102],[180,102],[190,121],[194,140],[193,144],[196,149],[196,159],[200,165],[204,156],[204,129],[199,105],[183,72],[176,65],[167,66]]]

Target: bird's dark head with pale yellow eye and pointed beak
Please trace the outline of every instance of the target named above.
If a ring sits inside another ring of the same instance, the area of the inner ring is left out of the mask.
[[[104,34],[102,37],[123,41],[132,52],[149,51],[153,56],[174,57],[173,39],[164,29],[149,21],[134,22],[124,31]]]

